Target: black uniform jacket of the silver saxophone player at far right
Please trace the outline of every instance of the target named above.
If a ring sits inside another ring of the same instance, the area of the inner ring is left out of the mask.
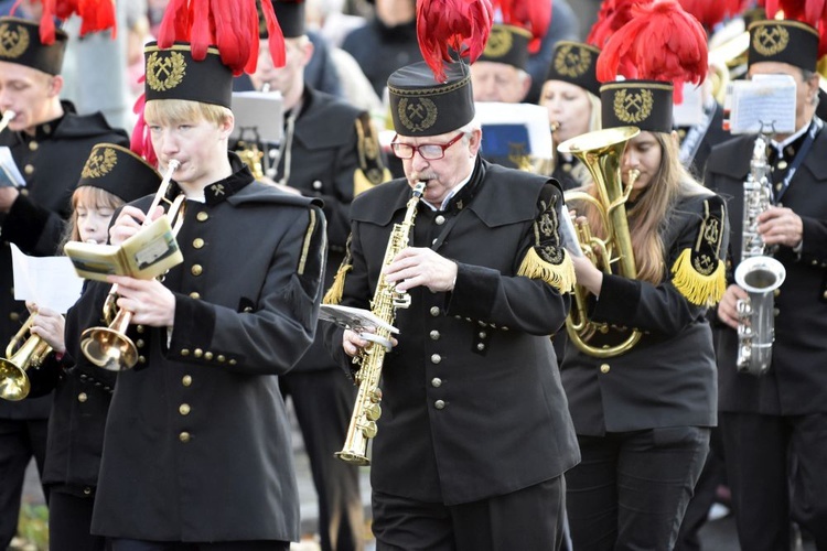
[[[743,182],[754,137],[715,149],[706,184],[727,198],[732,220],[732,267],[741,260]],[[798,415],[827,411],[827,132],[823,129],[782,196],[804,223],[801,256],[788,247],[774,255],[786,279],[774,298],[775,342],[767,374],[735,369],[738,335],[721,324],[718,374],[721,411]],[[730,281],[730,283],[733,281]]]

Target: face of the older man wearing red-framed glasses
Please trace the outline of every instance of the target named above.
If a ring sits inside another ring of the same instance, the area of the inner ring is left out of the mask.
[[[454,130],[453,132],[422,138],[397,136],[395,142],[414,147],[425,144],[444,147],[460,134],[459,130]],[[402,159],[405,176],[408,179],[410,186],[414,187],[416,182],[420,180],[428,181],[423,198],[431,205],[439,207],[451,190],[465,180],[474,169],[474,158],[480,150],[481,136],[482,131],[480,130],[468,132],[443,149],[444,156],[442,159],[428,160],[422,158],[418,150],[415,150],[410,159]]]

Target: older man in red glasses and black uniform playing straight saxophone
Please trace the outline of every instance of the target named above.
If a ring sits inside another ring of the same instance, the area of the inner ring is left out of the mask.
[[[579,460],[548,338],[573,283],[558,233],[562,194],[554,180],[480,158],[464,63],[449,64],[440,82],[425,63],[409,65],[388,88],[406,177],[354,199],[326,296],[369,309],[383,276],[410,296],[382,370],[370,472],[377,549],[557,549],[561,475]],[[409,246],[385,262],[420,182]],[[368,345],[352,331],[324,331],[347,369]]]

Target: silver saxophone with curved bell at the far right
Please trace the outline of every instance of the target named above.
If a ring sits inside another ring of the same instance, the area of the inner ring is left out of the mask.
[[[772,183],[766,160],[766,139],[759,134],[750,161],[750,174],[743,183],[743,223],[741,226],[741,262],[735,283],[748,299],[735,304],[738,312],[739,371],[762,375],[770,369],[775,339],[774,292],[784,282],[786,270],[767,255],[758,231],[758,217],[772,205]]]

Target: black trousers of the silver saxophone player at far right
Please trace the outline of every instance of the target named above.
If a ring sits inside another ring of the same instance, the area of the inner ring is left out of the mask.
[[[741,548],[790,549],[792,519],[827,550],[827,413],[720,418]]]

